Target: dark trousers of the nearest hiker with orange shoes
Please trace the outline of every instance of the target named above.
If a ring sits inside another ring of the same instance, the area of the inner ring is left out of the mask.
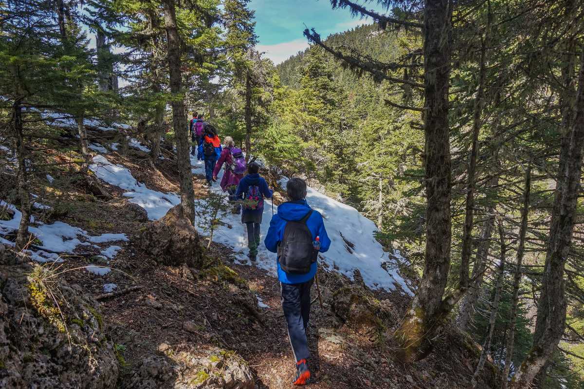
[[[282,309],[288,325],[288,338],[296,362],[310,356],[306,329],[310,319],[310,287],[314,279],[300,284],[280,282]]]

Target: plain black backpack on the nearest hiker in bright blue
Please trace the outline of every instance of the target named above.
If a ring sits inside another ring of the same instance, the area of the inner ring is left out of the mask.
[[[284,239],[278,246],[280,268],[286,273],[306,274],[312,263],[317,262],[318,251],[312,246],[312,232],[306,221],[312,210],[300,220],[286,220]]]

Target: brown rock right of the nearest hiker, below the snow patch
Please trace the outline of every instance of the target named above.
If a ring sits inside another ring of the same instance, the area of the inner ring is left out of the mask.
[[[343,324],[362,334],[381,334],[385,325],[396,319],[388,300],[377,300],[368,290],[346,286],[336,291],[331,301],[332,311]]]

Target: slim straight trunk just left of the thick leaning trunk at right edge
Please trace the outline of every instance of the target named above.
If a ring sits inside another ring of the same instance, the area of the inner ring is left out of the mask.
[[[517,321],[517,307],[519,305],[519,284],[521,282],[521,266],[523,263],[523,253],[525,252],[525,235],[527,232],[527,217],[529,216],[529,196],[531,192],[531,162],[527,165],[525,172],[525,189],[523,192],[523,208],[521,210],[521,225],[519,227],[519,245],[517,246],[517,263],[515,265],[515,275],[513,276],[513,296],[511,298],[511,313],[509,315],[509,332],[505,342],[505,366],[501,378],[501,388],[507,389],[509,381],[509,370],[511,369],[511,359],[513,358],[513,345],[515,345],[515,327]]]

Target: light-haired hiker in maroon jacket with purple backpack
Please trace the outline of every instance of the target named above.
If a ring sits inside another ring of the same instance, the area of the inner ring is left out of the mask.
[[[244,178],[247,167],[245,165],[244,153],[241,151],[241,148],[235,147],[235,142],[232,137],[225,137],[223,144],[225,148],[221,151],[221,156],[217,164],[215,164],[213,180],[217,180],[221,166],[225,164],[225,171],[223,172],[220,186],[223,192],[229,193],[229,200],[234,202],[237,200],[237,197],[235,197],[237,186],[239,185],[239,181]],[[238,214],[239,208],[240,206],[237,204],[237,206],[234,206],[232,212]]]

